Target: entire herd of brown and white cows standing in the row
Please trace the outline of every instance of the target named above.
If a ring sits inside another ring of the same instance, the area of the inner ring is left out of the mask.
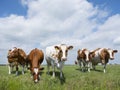
[[[60,70],[60,79],[63,78],[62,68],[65,61],[67,61],[68,51],[73,49],[73,46],[68,46],[66,44],[49,46],[46,48],[45,55],[40,49],[33,49],[28,55],[24,50],[14,47],[8,51],[8,69],[9,74],[11,74],[13,67],[16,67],[16,75],[18,75],[18,65],[22,66],[22,74],[24,74],[24,68],[30,70],[34,82],[38,82],[40,79],[40,71],[44,68],[41,67],[41,64],[44,60],[44,57],[47,62],[47,70],[49,74],[50,66],[52,66],[53,73],[52,76],[55,77],[55,68]],[[106,69],[106,64],[109,60],[114,59],[114,53],[118,52],[117,50],[112,50],[110,48],[97,48],[93,51],[90,51],[86,48],[79,49],[77,51],[77,60],[75,64],[79,64],[82,71],[95,69],[95,66],[98,63],[101,63],[104,66],[104,73]]]

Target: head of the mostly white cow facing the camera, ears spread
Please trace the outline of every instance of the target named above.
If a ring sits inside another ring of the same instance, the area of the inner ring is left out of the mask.
[[[61,44],[60,46],[55,46],[54,48],[58,51],[57,58],[61,61],[66,61],[68,50],[71,50],[73,46],[66,46],[65,44]]]

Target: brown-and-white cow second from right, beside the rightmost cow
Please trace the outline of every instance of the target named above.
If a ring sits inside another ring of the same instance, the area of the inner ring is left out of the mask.
[[[86,48],[82,50],[78,50],[77,52],[77,60],[75,61],[75,64],[79,64],[82,71],[88,68],[88,72],[90,72],[90,64],[91,64],[91,58],[90,58],[90,51]]]

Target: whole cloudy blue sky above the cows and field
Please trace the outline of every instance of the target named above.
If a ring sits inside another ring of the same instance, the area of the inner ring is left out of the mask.
[[[67,64],[74,64],[77,50],[117,49],[120,64],[120,0],[1,0],[0,64],[7,63],[13,47],[26,54],[56,44],[73,45]],[[43,62],[46,64],[46,61]]]

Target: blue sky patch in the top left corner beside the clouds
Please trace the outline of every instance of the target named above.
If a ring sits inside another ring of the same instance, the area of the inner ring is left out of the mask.
[[[26,15],[27,7],[21,4],[20,0],[1,0],[0,17],[6,17],[10,14]]]

